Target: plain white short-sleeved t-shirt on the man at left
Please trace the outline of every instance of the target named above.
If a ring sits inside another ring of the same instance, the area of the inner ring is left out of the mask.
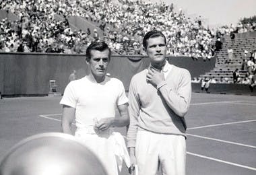
[[[75,108],[75,125],[82,128],[94,126],[95,118],[115,117],[117,106],[127,102],[119,79],[106,77],[96,83],[86,76],[67,85],[60,104]]]

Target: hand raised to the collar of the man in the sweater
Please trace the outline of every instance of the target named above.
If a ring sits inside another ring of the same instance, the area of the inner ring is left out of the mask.
[[[164,73],[160,73],[160,71],[154,69],[154,67],[150,67],[147,73],[147,81],[152,83],[152,85],[157,86],[159,83],[164,81]]]

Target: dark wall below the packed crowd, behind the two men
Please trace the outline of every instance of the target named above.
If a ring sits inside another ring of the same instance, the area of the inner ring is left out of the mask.
[[[55,79],[58,92],[63,94],[70,73],[75,69],[77,77],[89,73],[84,55],[55,55],[44,53],[0,52],[0,92],[3,95],[42,95],[49,93],[49,80]],[[188,57],[172,57],[170,63],[189,69],[191,77],[214,68],[215,60],[193,61]],[[129,89],[131,77],[148,67],[149,60],[141,56],[113,56],[108,67],[111,77],[123,81]]]

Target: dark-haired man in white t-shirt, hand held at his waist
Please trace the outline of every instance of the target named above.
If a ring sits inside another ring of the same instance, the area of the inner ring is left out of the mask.
[[[88,46],[86,63],[90,75],[71,81],[65,88],[60,102],[63,104],[61,124],[63,132],[71,134],[71,123],[75,119],[75,137],[99,157],[108,175],[117,175],[117,163],[120,170],[121,159],[116,156],[126,159],[127,163],[129,155],[123,137],[113,132],[113,127],[129,125],[128,98],[119,79],[106,77],[109,61],[110,48],[105,42],[93,42]],[[116,108],[121,117],[115,117]],[[118,149],[116,145],[119,145]]]

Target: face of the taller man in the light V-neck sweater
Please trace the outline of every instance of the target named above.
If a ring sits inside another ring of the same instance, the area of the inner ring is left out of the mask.
[[[166,44],[162,36],[156,38],[149,38],[147,40],[148,46],[146,52],[150,58],[151,63],[162,63],[166,57]]]

